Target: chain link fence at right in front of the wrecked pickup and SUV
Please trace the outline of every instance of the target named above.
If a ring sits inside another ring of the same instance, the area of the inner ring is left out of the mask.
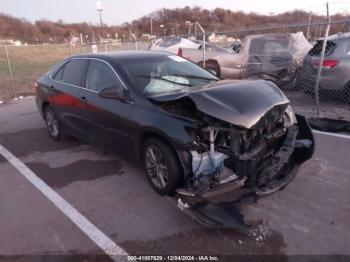
[[[350,120],[350,20],[206,36],[205,51],[202,34],[181,36],[201,46],[179,53],[223,79],[272,81],[307,117]]]

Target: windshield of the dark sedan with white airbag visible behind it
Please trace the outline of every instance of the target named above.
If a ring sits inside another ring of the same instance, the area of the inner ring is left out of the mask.
[[[176,56],[157,56],[125,60],[119,64],[138,91],[146,96],[179,92],[219,79],[213,74]]]

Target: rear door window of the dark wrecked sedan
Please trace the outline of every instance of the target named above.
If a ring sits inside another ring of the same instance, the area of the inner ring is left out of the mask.
[[[67,84],[82,86],[86,61],[85,59],[70,60],[64,67],[62,81]]]

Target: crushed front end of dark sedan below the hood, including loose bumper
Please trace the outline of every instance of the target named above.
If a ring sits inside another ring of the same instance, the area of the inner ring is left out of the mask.
[[[289,105],[274,107],[249,129],[208,116],[202,123],[183,153],[190,172],[177,190],[178,206],[201,224],[236,224],[223,209],[232,215],[229,204],[283,189],[314,152],[306,119]]]

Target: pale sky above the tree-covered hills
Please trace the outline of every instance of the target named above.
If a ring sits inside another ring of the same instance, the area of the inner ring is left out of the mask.
[[[207,9],[221,7],[233,11],[280,13],[294,9],[325,12],[323,0],[104,0],[103,20],[108,25],[118,25],[142,17],[163,7],[201,6]],[[330,9],[350,9],[350,1],[330,1]],[[98,23],[96,0],[0,0],[0,12],[35,21],[42,18],[65,22]]]

